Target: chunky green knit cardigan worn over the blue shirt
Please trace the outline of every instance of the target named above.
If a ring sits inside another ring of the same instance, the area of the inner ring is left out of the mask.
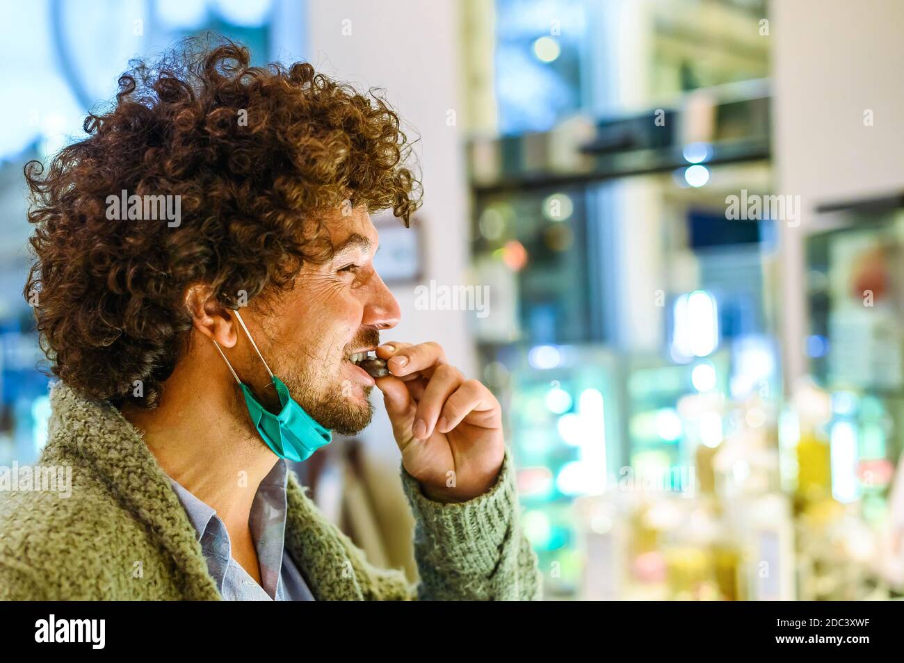
[[[139,431],[63,383],[40,464],[71,466],[71,496],[0,491],[0,600],[221,600],[194,528]],[[376,568],[290,472],[286,548],[318,601],[537,600],[537,557],[519,527],[508,450],[494,487],[428,500],[401,470],[416,519],[419,583]]]

